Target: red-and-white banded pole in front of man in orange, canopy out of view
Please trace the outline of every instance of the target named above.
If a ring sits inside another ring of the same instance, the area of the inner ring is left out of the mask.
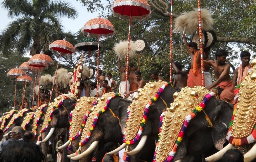
[[[199,21],[199,42],[202,44],[202,23],[201,23],[201,5],[200,0],[197,1],[198,3],[198,21]],[[200,46],[200,56],[201,56],[201,71],[202,71],[202,86],[204,87],[204,52],[203,47]]]

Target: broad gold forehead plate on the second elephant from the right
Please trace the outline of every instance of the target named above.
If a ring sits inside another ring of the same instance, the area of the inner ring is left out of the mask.
[[[164,114],[161,133],[159,133],[157,162],[164,162],[167,159],[175,145],[186,116],[199,106],[208,93],[209,91],[206,88],[195,86],[195,88],[182,88],[179,93],[175,92],[173,94],[175,99]]]

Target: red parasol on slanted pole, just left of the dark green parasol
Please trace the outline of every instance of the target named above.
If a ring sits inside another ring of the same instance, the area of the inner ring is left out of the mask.
[[[73,53],[76,52],[76,50],[75,50],[74,46],[71,43],[66,41],[66,37],[63,40],[55,40],[54,42],[52,42],[49,45],[49,49],[53,52],[60,52],[60,57],[59,57],[59,61],[58,61],[56,72],[55,72],[55,76],[56,76],[57,71],[59,69],[59,62],[61,60],[61,54],[62,53],[64,53],[64,54],[73,54]],[[51,102],[51,99],[52,99],[52,92],[53,92],[53,89],[54,89],[55,80],[56,80],[56,77],[54,78],[54,82],[52,84],[52,91],[50,92],[51,95],[50,95],[49,102]]]

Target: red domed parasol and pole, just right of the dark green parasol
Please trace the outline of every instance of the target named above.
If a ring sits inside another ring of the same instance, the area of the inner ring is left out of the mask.
[[[112,35],[115,32],[114,26],[107,19],[97,17],[91,19],[83,25],[81,32],[85,35],[90,33],[98,36],[98,54],[97,54],[97,97],[99,96],[99,55],[100,55],[100,35]]]

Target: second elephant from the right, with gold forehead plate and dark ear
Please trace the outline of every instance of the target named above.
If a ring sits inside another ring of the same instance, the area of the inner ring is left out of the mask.
[[[204,87],[186,87],[174,94],[174,102],[161,116],[154,162],[201,161],[202,154],[223,148],[233,106],[214,95]]]

